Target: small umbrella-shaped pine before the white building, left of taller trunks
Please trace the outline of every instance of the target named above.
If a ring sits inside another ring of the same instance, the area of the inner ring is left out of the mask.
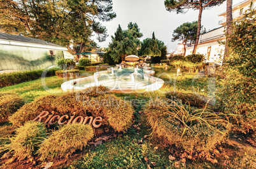
[[[186,45],[188,42],[190,44],[196,40],[197,34],[197,21],[194,22],[185,22],[184,24],[177,27],[173,30],[173,39],[172,41],[181,41],[184,46],[184,56],[186,53]]]

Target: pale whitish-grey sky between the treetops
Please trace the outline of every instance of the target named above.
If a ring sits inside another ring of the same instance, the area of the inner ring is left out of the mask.
[[[233,0],[232,5],[237,4],[243,0]],[[208,10],[203,10],[201,24],[206,30],[220,27],[218,21],[222,17],[218,15],[226,10],[226,1],[220,6],[215,6]],[[110,22],[103,22],[102,24],[108,29],[109,36],[106,41],[99,43],[94,36],[92,39],[101,48],[107,48],[111,42],[111,36],[117,30],[118,24],[122,29],[127,29],[129,22],[136,22],[143,33],[143,37],[139,38],[141,41],[147,37],[152,37],[155,32],[155,37],[163,41],[168,52],[174,51],[178,46],[178,41],[171,41],[173,30],[185,22],[193,22],[198,20],[199,10],[189,9],[185,14],[177,14],[175,11],[169,12],[164,6],[164,0],[113,0],[113,11],[117,17]]]

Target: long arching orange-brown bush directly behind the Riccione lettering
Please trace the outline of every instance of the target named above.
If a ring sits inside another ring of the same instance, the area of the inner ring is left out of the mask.
[[[115,95],[101,95],[96,91],[107,90],[103,86],[93,88],[90,93],[67,93],[61,97],[48,95],[40,97],[29,104],[25,104],[9,120],[13,125],[20,126],[25,121],[32,120],[42,111],[52,112],[55,115],[92,116],[103,118],[102,126],[111,126],[117,132],[124,132],[131,126],[134,109],[125,100]],[[98,96],[96,98],[91,96]],[[42,121],[44,122],[46,118]]]

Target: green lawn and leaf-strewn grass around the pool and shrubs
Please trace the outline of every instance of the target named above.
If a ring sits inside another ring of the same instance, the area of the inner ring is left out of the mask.
[[[176,77],[176,70],[164,71],[163,66],[154,67],[155,77],[160,77],[166,82],[160,91],[152,91],[148,93],[115,93],[118,97],[123,97],[129,100],[134,106],[134,125],[141,124],[141,130],[136,130],[131,127],[125,132],[122,137],[113,139],[99,145],[95,149],[85,148],[80,156],[82,158],[65,159],[61,165],[53,166],[52,168],[174,168],[179,165],[183,168],[179,160],[175,164],[174,161],[168,159],[171,154],[169,150],[162,146],[161,140],[153,137],[144,139],[144,135],[150,135],[151,130],[146,124],[145,115],[139,113],[143,111],[146,101],[155,97],[165,97],[166,92],[176,91],[182,93],[199,93],[207,96],[209,85],[214,83],[213,78],[196,78],[194,73],[188,74],[183,72],[182,76]],[[162,73],[165,74],[162,74]],[[90,76],[94,72],[80,71],[82,76]],[[60,85],[63,79],[56,76],[45,78],[45,84],[49,90],[45,90],[41,83],[41,79],[28,81],[18,85],[0,88],[0,92],[18,93],[24,97],[26,102],[31,102],[35,98],[43,95],[62,95]],[[210,82],[210,83],[208,83]],[[193,86],[192,86],[193,84]],[[138,104],[139,100],[139,104]],[[13,134],[13,128],[10,123],[0,124],[0,137],[6,138]],[[142,142],[139,140],[142,139]],[[4,140],[0,140],[0,145]],[[158,147],[158,149],[155,149]],[[225,142],[222,147],[218,147],[221,154],[217,157],[218,163],[211,163],[206,160],[188,160],[187,168],[252,168],[251,162],[256,159],[255,148],[246,144],[243,137],[231,137]],[[3,155],[0,154],[0,156]],[[148,159],[148,161],[146,160]],[[68,161],[68,162],[67,162]],[[55,163],[55,161],[53,161]],[[17,162],[20,163],[20,162]],[[59,162],[60,163],[60,162]],[[3,163],[0,162],[0,167]],[[155,165],[155,166],[154,166]],[[61,166],[61,167],[60,167]],[[10,168],[6,165],[5,168]]]

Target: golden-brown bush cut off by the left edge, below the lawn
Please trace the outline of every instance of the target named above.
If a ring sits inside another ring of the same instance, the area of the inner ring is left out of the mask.
[[[17,94],[0,93],[0,122],[8,121],[8,117],[24,104],[24,100]]]

